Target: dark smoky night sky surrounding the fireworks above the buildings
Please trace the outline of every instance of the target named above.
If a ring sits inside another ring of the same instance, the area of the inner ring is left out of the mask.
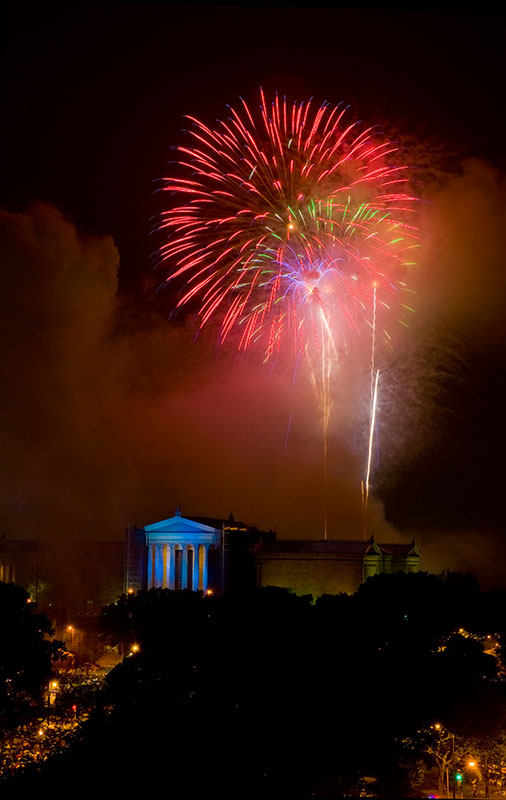
[[[228,516],[322,535],[320,423],[285,369],[195,338],[151,234],[184,114],[259,86],[351,105],[416,167],[416,318],[385,359],[370,530],[506,584],[505,17],[4,4],[2,481],[8,537]],[[362,535],[363,365],[330,429],[329,536]],[[358,409],[358,410],[357,410]],[[290,424],[291,420],[291,424]]]

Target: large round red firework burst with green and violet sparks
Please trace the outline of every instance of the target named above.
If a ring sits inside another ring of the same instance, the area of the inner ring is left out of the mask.
[[[296,361],[305,354],[326,464],[341,354],[351,335],[365,335],[371,311],[376,337],[377,314],[408,308],[415,198],[395,144],[348,121],[342,105],[268,103],[262,91],[260,101],[229,107],[213,128],[188,117],[191,142],[164,179],[174,199],[160,218],[157,263],[169,266],[177,308],[197,304],[200,327],[219,322],[220,344],[259,346],[268,360],[286,341]]]

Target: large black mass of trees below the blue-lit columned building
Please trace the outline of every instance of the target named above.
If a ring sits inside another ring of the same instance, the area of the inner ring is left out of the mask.
[[[151,590],[101,624],[125,659],[53,767],[90,790],[100,775],[178,799],[416,795],[419,731],[500,736],[506,717],[506,594],[469,575],[380,575],[316,601]]]

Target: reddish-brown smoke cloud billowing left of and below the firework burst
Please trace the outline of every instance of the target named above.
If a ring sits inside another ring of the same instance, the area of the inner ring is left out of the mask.
[[[178,505],[322,535],[320,421],[307,387],[217,356],[190,322],[136,318],[118,297],[109,237],[82,237],[44,205],[3,212],[1,225],[8,536],[119,538]],[[329,514],[340,535],[355,535],[357,464],[339,448]]]

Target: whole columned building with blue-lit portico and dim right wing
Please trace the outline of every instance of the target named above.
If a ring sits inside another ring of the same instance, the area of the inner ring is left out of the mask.
[[[297,594],[353,594],[371,575],[417,572],[419,562],[414,541],[277,539],[232,515],[186,518],[178,510],[169,519],[127,531],[125,592],[222,592],[256,584]]]

